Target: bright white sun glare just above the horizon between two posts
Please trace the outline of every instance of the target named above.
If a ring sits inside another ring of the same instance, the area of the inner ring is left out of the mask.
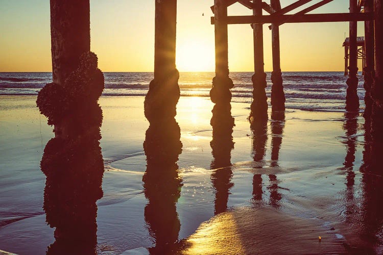
[[[180,43],[177,45],[176,65],[179,71],[213,71],[214,48],[202,41]]]

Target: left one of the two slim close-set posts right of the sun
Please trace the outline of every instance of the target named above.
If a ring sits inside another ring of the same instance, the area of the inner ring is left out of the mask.
[[[262,0],[253,0],[253,14],[262,15]],[[268,118],[268,104],[265,88],[267,86],[264,69],[264,35],[262,24],[253,24],[254,37],[254,74],[253,103],[251,104],[250,121],[260,118]]]

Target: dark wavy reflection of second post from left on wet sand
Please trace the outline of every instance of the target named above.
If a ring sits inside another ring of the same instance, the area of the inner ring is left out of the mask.
[[[172,254],[177,250],[180,220],[176,203],[182,179],[178,173],[178,156],[182,151],[180,127],[174,118],[152,120],[143,143],[147,169],[142,177],[148,203],[145,221],[153,238],[151,254]]]

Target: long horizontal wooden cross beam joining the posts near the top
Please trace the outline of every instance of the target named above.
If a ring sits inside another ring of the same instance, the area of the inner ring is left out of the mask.
[[[344,22],[373,20],[373,13],[321,13],[304,15],[262,15],[262,16],[228,16],[226,24],[259,24],[259,23],[307,23],[307,22]],[[211,17],[214,24],[214,17]]]

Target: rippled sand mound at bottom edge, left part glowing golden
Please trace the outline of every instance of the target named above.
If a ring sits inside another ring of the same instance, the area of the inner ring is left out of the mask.
[[[183,247],[183,254],[345,252],[341,241],[314,221],[266,208],[237,208],[221,213],[202,223]]]

